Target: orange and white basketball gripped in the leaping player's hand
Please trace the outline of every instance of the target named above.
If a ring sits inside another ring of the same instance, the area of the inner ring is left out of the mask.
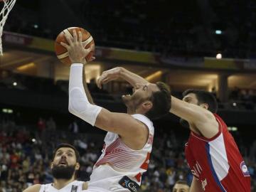
[[[58,59],[66,64],[66,65],[71,65],[70,58],[68,57],[68,50],[60,45],[60,42],[67,43],[65,39],[65,33],[68,33],[70,36],[73,36],[73,31],[76,31],[77,35],[78,32],[82,32],[82,43],[84,44],[85,48],[89,48],[90,46],[93,45],[93,50],[86,56],[86,61],[90,60],[92,58],[94,52],[95,52],[95,42],[90,35],[88,31],[86,31],[84,28],[79,28],[79,27],[70,27],[66,28],[65,30],[61,31],[60,34],[58,34],[57,38],[55,39],[55,53],[58,57]]]

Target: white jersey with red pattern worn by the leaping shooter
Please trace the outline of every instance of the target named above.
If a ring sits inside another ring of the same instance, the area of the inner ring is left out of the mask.
[[[140,186],[142,174],[146,172],[149,165],[154,127],[153,123],[142,114],[133,114],[132,117],[148,127],[149,138],[146,144],[143,149],[133,150],[122,142],[118,134],[107,132],[102,155],[90,176],[89,191],[94,188],[107,191],[137,191],[132,188]]]

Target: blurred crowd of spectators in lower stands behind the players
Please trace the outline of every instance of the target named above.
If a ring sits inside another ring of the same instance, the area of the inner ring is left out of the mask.
[[[19,192],[36,183],[52,182],[49,165],[53,149],[61,142],[74,144],[80,151],[78,176],[80,180],[88,181],[93,165],[100,156],[104,135],[78,134],[79,126],[74,124],[76,122],[72,122],[67,129],[58,129],[53,118],[45,120],[40,117],[38,124],[28,129],[13,120],[1,118],[0,192]],[[193,177],[183,153],[188,136],[178,136],[173,130],[156,131],[149,169],[142,176],[141,192],[171,192],[176,181],[191,183]],[[256,142],[253,142],[250,154],[245,156],[252,176],[252,191],[256,190],[255,159]]]

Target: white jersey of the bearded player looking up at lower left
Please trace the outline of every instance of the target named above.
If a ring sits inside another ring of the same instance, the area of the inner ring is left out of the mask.
[[[53,183],[48,183],[46,185],[41,185],[39,192],[81,192],[82,191],[82,184],[85,183],[84,181],[73,181],[68,183],[65,187],[58,190],[57,188],[53,187]]]

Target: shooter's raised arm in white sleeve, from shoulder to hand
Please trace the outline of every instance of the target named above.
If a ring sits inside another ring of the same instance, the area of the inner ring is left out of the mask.
[[[81,33],[79,33],[79,40],[75,31],[73,38],[69,36],[65,36],[65,38],[67,38],[69,46],[65,43],[62,45],[67,48],[70,60],[73,62],[70,67],[69,112],[92,126],[95,125],[108,132],[119,134],[124,143],[132,149],[142,149],[148,138],[149,129],[129,114],[110,112],[89,102],[82,83],[82,63],[85,63],[84,58],[90,53],[91,48],[85,49],[82,46]],[[134,134],[138,137],[134,137]]]

